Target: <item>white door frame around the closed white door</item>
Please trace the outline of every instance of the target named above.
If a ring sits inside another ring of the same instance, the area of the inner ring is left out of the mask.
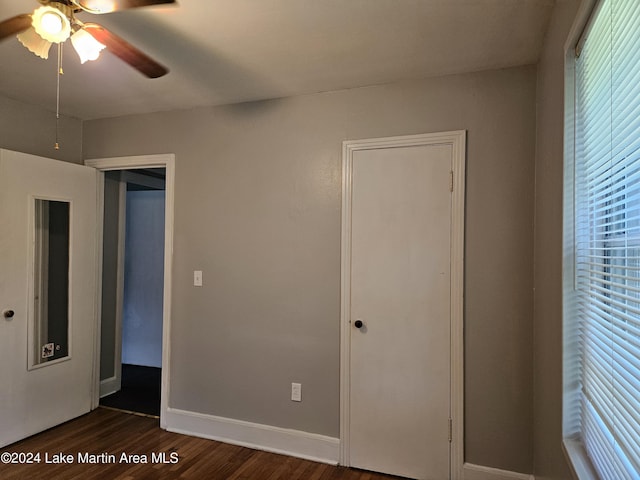
[[[451,145],[451,478],[464,464],[464,194],[466,131],[347,140],[342,144],[342,255],[340,303],[340,464],[349,466],[351,358],[351,201],[353,154],[358,150]]]

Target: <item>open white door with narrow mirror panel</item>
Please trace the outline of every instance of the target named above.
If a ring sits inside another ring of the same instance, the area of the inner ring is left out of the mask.
[[[88,412],[93,168],[0,150],[0,446]]]

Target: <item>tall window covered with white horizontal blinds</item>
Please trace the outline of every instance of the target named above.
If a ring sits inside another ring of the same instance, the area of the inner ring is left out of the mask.
[[[594,476],[637,479],[640,2],[598,2],[576,52],[565,155],[564,434]]]

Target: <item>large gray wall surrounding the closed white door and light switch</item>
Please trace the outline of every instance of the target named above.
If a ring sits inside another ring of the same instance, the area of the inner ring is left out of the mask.
[[[532,471],[535,95],[523,67],[85,122],[85,158],[176,154],[169,405],[337,437],[341,143],[466,129],[466,460]]]

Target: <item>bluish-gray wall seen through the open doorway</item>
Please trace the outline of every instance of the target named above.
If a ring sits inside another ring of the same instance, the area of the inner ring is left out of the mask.
[[[164,190],[127,192],[122,363],[162,367]]]

